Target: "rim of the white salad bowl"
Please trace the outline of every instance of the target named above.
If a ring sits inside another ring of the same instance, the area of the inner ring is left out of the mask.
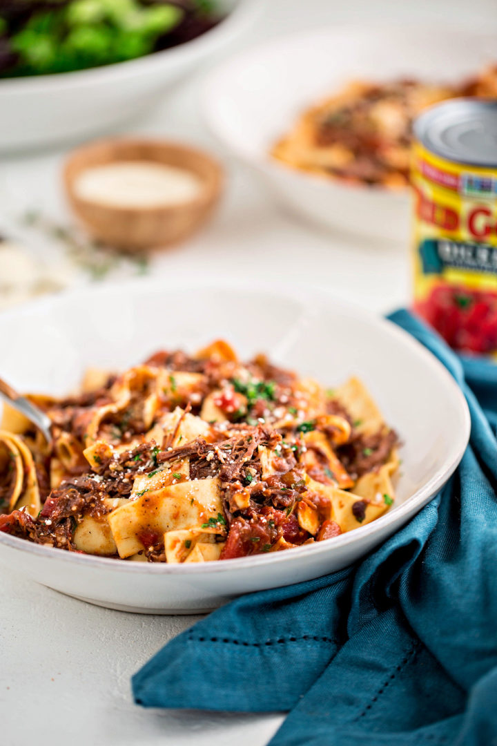
[[[235,7],[229,10],[227,16],[224,16],[224,19],[218,25],[200,34],[199,37],[168,49],[145,54],[143,57],[136,57],[134,60],[124,60],[123,62],[73,72],[55,72],[51,75],[2,78],[0,80],[0,100],[1,94],[4,92],[25,95],[31,91],[48,93],[51,90],[72,88],[75,85],[92,86],[95,82],[104,83],[113,81],[115,78],[133,78],[134,75],[142,75],[149,69],[162,64],[165,60],[171,63],[171,67],[182,63],[185,57],[194,60],[211,48],[217,47],[218,41],[222,40],[223,37],[234,37],[243,28],[250,25],[259,16],[263,7],[264,0],[238,0]]]

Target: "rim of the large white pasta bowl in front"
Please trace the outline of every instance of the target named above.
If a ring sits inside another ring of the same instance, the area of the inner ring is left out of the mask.
[[[133,292],[143,291],[143,288],[148,286],[150,289],[156,288],[157,290],[163,287],[161,279],[133,279],[128,280],[125,283],[106,283],[98,288],[86,287],[72,290],[66,290],[59,293],[58,295],[51,295],[47,298],[42,298],[38,301],[31,301],[28,304],[22,305],[18,310],[11,309],[0,313],[0,327],[5,320],[31,313],[37,313],[44,310],[45,308],[57,307],[65,302],[66,297],[72,301],[80,301],[80,307],[84,307],[83,300],[87,300],[88,296],[95,297],[98,295],[123,295]],[[215,278],[203,278],[193,279],[187,281],[187,286],[191,289],[205,288],[218,288],[220,291],[227,289],[227,286],[220,283]],[[233,570],[247,570],[251,567],[260,567],[261,565],[273,565],[276,562],[285,562],[293,557],[302,557],[304,560],[308,556],[316,557],[318,554],[327,554],[332,547],[343,548],[347,545],[359,542],[361,539],[365,539],[367,536],[379,533],[382,527],[387,527],[391,523],[399,521],[399,530],[404,525],[408,515],[413,513],[414,515],[420,510],[424,504],[437,495],[437,492],[443,487],[443,485],[449,480],[458,467],[460,460],[463,457],[466,446],[469,442],[469,433],[471,430],[471,419],[469,416],[469,407],[464,398],[463,392],[460,390],[455,379],[445,368],[445,366],[434,357],[420,342],[417,342],[414,337],[409,335],[407,332],[402,330],[397,325],[390,322],[388,319],[384,319],[381,316],[376,316],[373,313],[368,313],[367,310],[361,309],[353,303],[343,301],[339,298],[335,298],[332,293],[326,292],[321,288],[309,289],[308,285],[300,283],[274,283],[268,281],[260,281],[250,286],[247,291],[247,287],[241,281],[233,280],[230,281],[229,289],[234,289],[238,292],[250,292],[260,293],[267,292],[272,296],[278,295],[280,298],[294,298],[295,294],[298,293],[298,297],[303,299],[312,298],[315,304],[316,298],[323,299],[323,301],[332,302],[336,307],[338,313],[341,309],[345,309],[349,315],[354,316],[366,325],[373,327],[382,327],[387,334],[396,338],[397,342],[405,348],[410,349],[418,357],[422,357],[425,363],[431,369],[433,374],[439,379],[443,380],[443,384],[452,390],[452,394],[455,400],[458,401],[460,412],[463,416],[463,427],[460,432],[456,434],[457,446],[454,448],[452,457],[449,463],[445,466],[437,468],[431,479],[429,479],[420,489],[417,489],[410,498],[407,498],[402,504],[389,510],[384,515],[376,518],[375,521],[371,521],[370,524],[365,526],[359,526],[352,531],[343,533],[340,536],[336,536],[332,539],[332,545],[329,542],[316,542],[312,545],[306,545],[302,547],[296,547],[294,549],[286,549],[285,551],[273,552],[268,554],[257,554],[250,557],[239,557],[234,560],[225,560],[218,562],[205,562],[191,565],[168,565],[166,562],[129,562],[126,560],[118,560],[113,557],[98,557],[91,554],[76,554],[75,552],[64,551],[52,547],[45,547],[39,544],[33,544],[28,542],[27,539],[21,539],[17,536],[10,536],[7,533],[0,531],[0,544],[7,545],[10,548],[16,549],[17,551],[24,551],[28,554],[34,554],[38,557],[45,557],[48,560],[57,560],[60,562],[77,563],[84,565],[87,568],[107,568],[107,570],[113,570],[115,572],[133,572],[138,574],[171,574],[171,575],[192,575],[192,574],[218,574],[223,572],[229,572]]]

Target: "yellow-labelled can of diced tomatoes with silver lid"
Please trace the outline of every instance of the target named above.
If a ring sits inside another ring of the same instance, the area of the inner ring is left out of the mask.
[[[414,309],[453,348],[497,354],[497,101],[414,123]]]

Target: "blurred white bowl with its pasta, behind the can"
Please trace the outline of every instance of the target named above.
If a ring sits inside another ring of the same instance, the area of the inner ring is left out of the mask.
[[[460,95],[496,97],[492,35],[333,26],[219,66],[203,112],[283,206],[329,228],[405,240],[412,119]]]

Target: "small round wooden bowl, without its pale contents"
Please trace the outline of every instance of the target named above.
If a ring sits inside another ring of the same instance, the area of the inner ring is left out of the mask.
[[[75,192],[80,172],[122,160],[148,160],[187,169],[200,178],[200,195],[182,204],[117,207],[89,201]],[[186,239],[200,228],[218,202],[224,174],[205,153],[162,140],[98,140],[72,151],[63,168],[69,204],[96,239],[124,251],[159,248]]]

